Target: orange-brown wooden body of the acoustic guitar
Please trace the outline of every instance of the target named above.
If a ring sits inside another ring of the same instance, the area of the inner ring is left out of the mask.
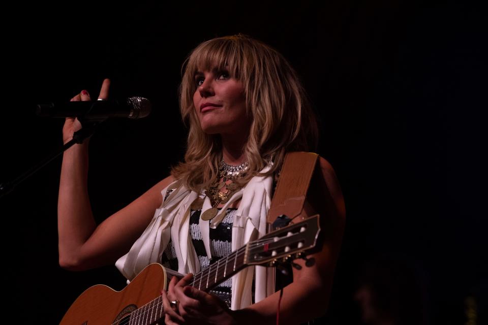
[[[121,291],[106,285],[94,285],[76,299],[59,324],[115,325],[123,319],[122,323],[127,324],[128,315],[161,296],[166,284],[164,267],[155,263],[142,270]]]

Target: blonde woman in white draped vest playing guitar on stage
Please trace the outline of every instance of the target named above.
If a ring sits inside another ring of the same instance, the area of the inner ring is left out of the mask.
[[[109,83],[104,80],[99,99],[108,98]],[[83,90],[72,100],[90,97]],[[194,273],[222,256],[222,250],[229,251],[228,243],[217,247],[225,228],[232,228],[227,238],[232,250],[265,233],[273,179],[286,152],[313,150],[317,143],[313,111],[289,63],[242,35],[204,42],[186,62],[180,109],[190,127],[185,161],[98,226],[86,190],[88,141],[65,152],[58,201],[62,267],[84,270],[117,261],[130,280],[148,263],[173,262],[180,273]],[[66,120],[65,143],[79,128],[76,119]],[[312,201],[321,205],[312,205],[326,218],[329,234],[313,266],[296,262],[302,268],[293,270],[293,282],[284,288],[282,323],[320,316],[330,294],[345,210],[331,166],[323,158],[320,166],[323,177],[314,182]],[[270,273],[257,267],[255,275],[248,268],[234,276],[232,309],[215,295],[188,286],[191,274],[173,278],[168,293],[162,293],[165,322],[274,323],[280,293],[271,294]]]

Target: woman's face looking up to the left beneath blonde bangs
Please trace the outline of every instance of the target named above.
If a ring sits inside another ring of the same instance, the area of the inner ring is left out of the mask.
[[[249,132],[246,97],[242,82],[217,68],[195,73],[197,89],[193,104],[203,132],[237,135]]]

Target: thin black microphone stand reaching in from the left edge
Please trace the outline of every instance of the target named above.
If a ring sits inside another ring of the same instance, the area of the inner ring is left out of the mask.
[[[85,120],[82,122],[83,127],[76,131],[73,134],[73,139],[67,142],[66,144],[63,145],[62,148],[48,156],[46,159],[42,160],[39,164],[35,165],[19,177],[15,178],[11,182],[5,182],[5,183],[0,183],[0,198],[3,196],[7,195],[10,193],[15,186],[26,180],[27,178],[31,177],[33,174],[35,174],[38,170],[49,164],[52,160],[54,160],[57,156],[62,154],[65,150],[73,146],[74,144],[82,144],[83,141],[92,136],[98,126],[104,122],[106,119],[101,119],[101,120]]]

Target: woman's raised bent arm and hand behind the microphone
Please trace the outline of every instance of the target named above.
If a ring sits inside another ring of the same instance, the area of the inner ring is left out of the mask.
[[[107,99],[109,84],[105,79],[99,98]],[[86,91],[72,99],[89,100]],[[71,140],[80,128],[77,119],[68,118],[63,127],[64,142]],[[161,190],[173,181],[171,176],[165,178],[97,226],[88,198],[87,175],[88,139],[65,151],[59,182],[59,265],[74,271],[113,264],[129,251],[161,205]]]

